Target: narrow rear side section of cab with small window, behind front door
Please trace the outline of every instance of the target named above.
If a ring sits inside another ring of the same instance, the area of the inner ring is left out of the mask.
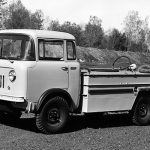
[[[69,71],[69,88],[70,93],[75,105],[78,105],[79,91],[80,91],[80,64],[76,58],[75,43],[73,41],[66,41],[67,50],[67,64]]]

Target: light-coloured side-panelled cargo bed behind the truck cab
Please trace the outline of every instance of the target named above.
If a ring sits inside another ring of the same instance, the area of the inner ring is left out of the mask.
[[[82,112],[131,110],[138,90],[150,88],[150,74],[118,69],[82,70]]]

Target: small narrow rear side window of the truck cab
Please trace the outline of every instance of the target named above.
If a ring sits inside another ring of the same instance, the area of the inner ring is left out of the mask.
[[[67,41],[67,59],[68,60],[76,59],[75,44],[73,41]]]

